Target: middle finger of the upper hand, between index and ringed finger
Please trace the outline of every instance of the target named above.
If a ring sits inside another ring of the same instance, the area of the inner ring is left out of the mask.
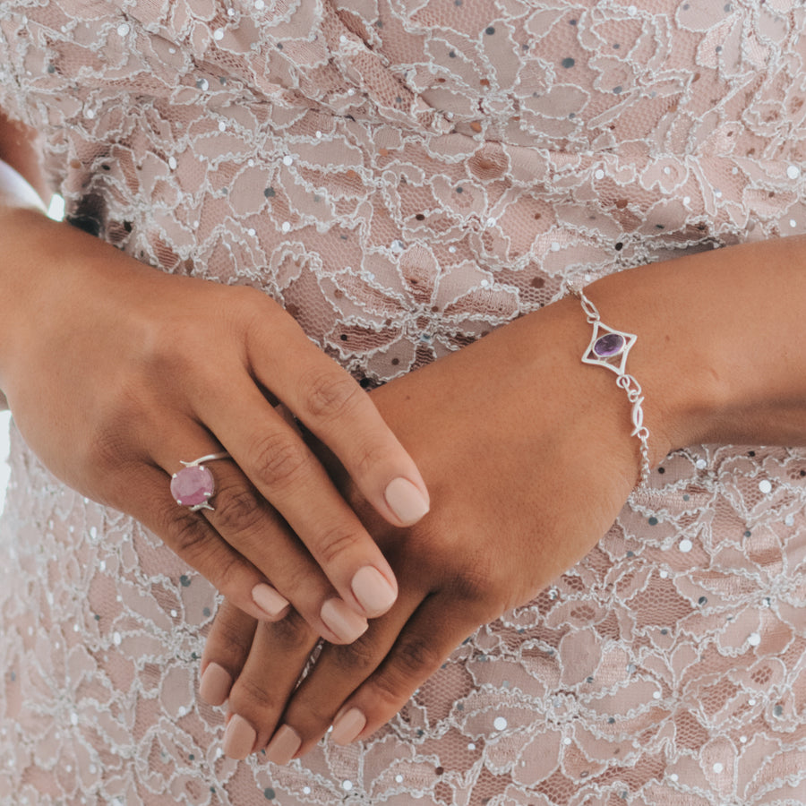
[[[237,407],[232,400],[238,401]],[[365,617],[386,612],[397,597],[389,563],[313,452],[253,382],[244,376],[226,394],[211,390],[199,414],[302,540],[348,609]],[[273,545],[264,540],[253,551],[255,565],[270,576]],[[324,622],[329,615],[321,613]],[[347,617],[341,613],[339,618],[342,615]]]

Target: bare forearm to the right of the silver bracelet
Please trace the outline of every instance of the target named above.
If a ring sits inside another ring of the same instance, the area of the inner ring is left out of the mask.
[[[806,444],[804,266],[806,237],[780,238],[588,288],[604,322],[639,335],[629,371],[656,462],[697,442]]]

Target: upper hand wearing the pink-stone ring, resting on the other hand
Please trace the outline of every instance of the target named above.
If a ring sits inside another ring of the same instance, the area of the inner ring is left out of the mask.
[[[364,390],[279,304],[163,274],[31,210],[0,210],[0,232],[0,386],[56,476],[141,520],[255,618],[290,602],[338,643],[390,607],[388,562],[274,404],[391,523],[427,510],[424,483]],[[214,510],[177,505],[180,460],[221,450],[232,460],[210,465]]]

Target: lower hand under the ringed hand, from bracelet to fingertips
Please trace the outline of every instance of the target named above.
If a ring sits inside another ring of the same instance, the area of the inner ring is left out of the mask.
[[[405,531],[361,512],[399,579],[398,602],[355,643],[325,645],[296,690],[313,632],[293,615],[258,625],[225,603],[202,660],[205,679],[222,683],[201,695],[229,693],[227,755],[268,744],[283,763],[331,723],[332,741],[368,736],[467,635],[530,601],[604,535],[636,482],[639,442],[613,375],[579,360],[589,338],[579,302],[566,300],[373,392],[434,503]],[[654,443],[665,450],[659,431]]]

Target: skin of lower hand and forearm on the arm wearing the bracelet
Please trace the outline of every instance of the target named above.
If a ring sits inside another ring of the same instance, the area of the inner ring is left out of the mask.
[[[653,466],[700,442],[806,442],[804,260],[806,240],[787,238],[587,288],[603,322],[639,334],[628,371],[646,396]],[[373,393],[433,508],[414,527],[388,527],[333,471],[395,570],[399,599],[355,643],[325,645],[296,690],[315,643],[304,624],[221,609],[203,664],[235,681],[229,711],[253,725],[253,750],[268,745],[286,761],[286,725],[290,755],[304,755],[354,709],[365,724],[355,717],[356,736],[341,741],[369,736],[462,639],[526,604],[604,535],[636,483],[639,442],[615,376],[579,360],[590,334],[566,298]]]

